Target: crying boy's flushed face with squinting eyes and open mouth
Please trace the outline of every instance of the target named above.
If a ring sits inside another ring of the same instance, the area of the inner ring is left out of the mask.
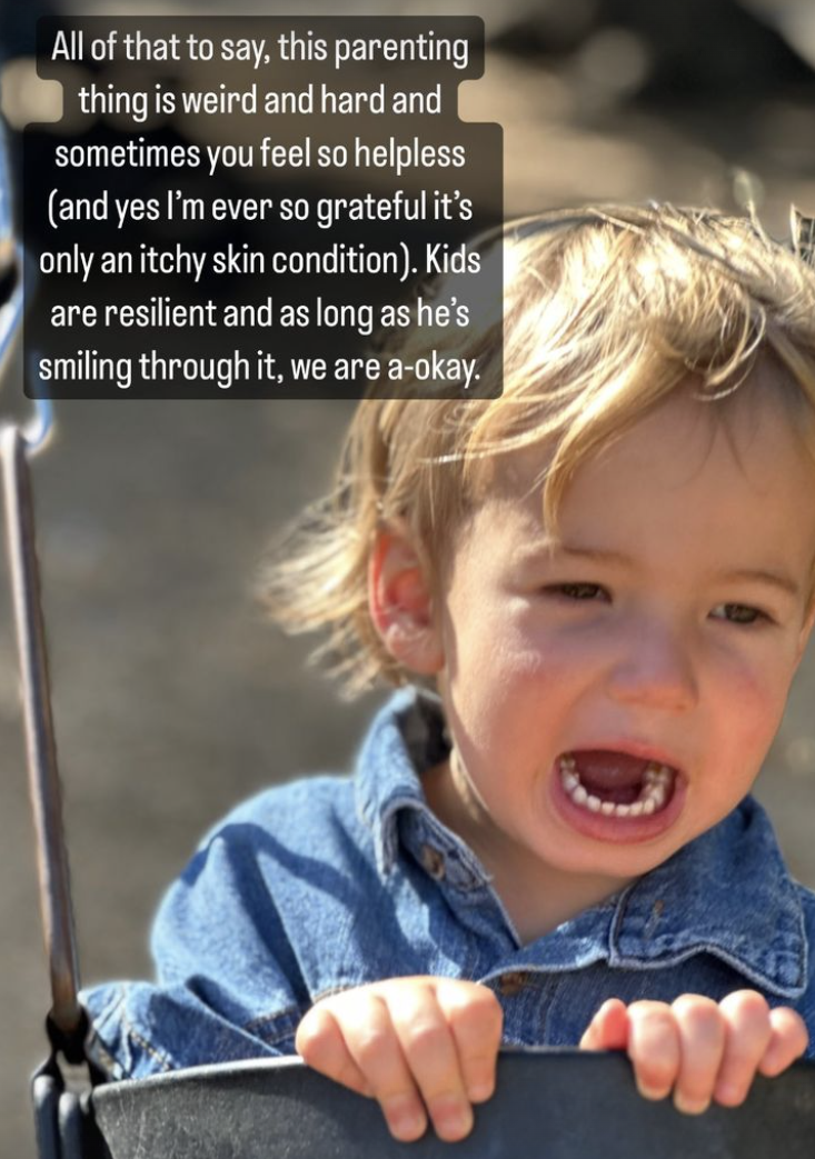
[[[432,629],[447,812],[499,879],[589,874],[602,896],[752,785],[815,562],[815,467],[754,400],[716,423],[675,394],[577,471],[556,544],[530,452],[461,530]]]

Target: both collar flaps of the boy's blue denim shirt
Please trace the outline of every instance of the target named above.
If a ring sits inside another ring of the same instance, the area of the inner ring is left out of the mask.
[[[410,809],[432,817],[420,774],[443,760],[449,748],[441,700],[432,693],[401,690],[377,715],[359,755],[356,794],[380,873],[388,873],[399,855],[400,814]],[[474,854],[468,866],[489,882]],[[772,825],[752,797],[616,899],[525,947],[523,956],[530,964],[541,952],[547,958],[547,943],[554,950],[574,924],[585,932],[592,913],[595,935],[598,924],[610,933],[603,954],[597,955],[595,941],[590,956],[607,957],[612,967],[658,969],[706,952],[783,998],[806,990],[803,909]]]

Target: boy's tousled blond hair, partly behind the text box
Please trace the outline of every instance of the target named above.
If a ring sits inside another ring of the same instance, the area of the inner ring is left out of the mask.
[[[457,355],[478,357],[495,399],[366,399],[351,422],[336,487],[281,542],[267,602],[289,630],[327,628],[316,654],[349,693],[377,676],[402,683],[369,614],[377,534],[400,522],[431,575],[489,486],[496,457],[541,446],[544,513],[580,465],[689,381],[726,404],[759,357],[815,453],[815,271],[803,253],[749,218],[711,210],[601,206],[509,223],[485,252],[504,263],[503,321],[472,327]],[[454,284],[442,286],[450,292]],[[414,328],[413,364],[439,336]]]

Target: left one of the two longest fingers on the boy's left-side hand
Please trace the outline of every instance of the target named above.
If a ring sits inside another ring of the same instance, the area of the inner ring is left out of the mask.
[[[399,1044],[387,1004],[370,991],[349,991],[334,1012],[345,1045],[383,1109],[388,1130],[402,1143],[428,1125],[422,1100]]]

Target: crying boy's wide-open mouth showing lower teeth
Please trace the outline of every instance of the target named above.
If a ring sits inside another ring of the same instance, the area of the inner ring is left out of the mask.
[[[649,817],[670,802],[677,770],[626,752],[584,749],[558,758],[560,781],[569,800],[605,817]]]

